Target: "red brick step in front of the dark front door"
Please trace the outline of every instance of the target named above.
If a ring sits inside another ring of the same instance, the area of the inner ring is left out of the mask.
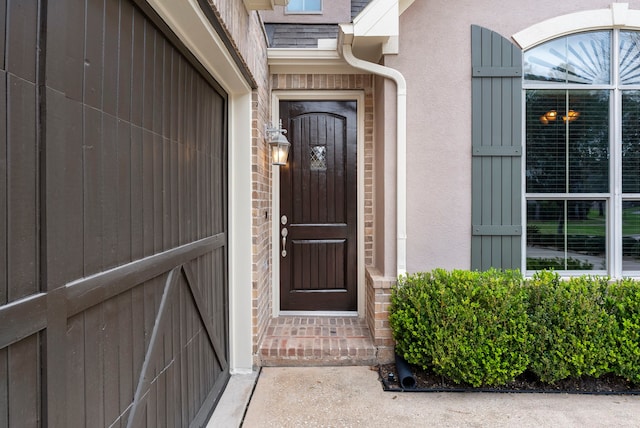
[[[377,350],[364,319],[272,318],[259,348],[264,367],[375,365]]]

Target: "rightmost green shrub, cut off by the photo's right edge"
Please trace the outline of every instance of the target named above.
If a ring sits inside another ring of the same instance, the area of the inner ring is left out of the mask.
[[[610,284],[607,309],[617,321],[614,372],[640,384],[640,283],[624,279]]]

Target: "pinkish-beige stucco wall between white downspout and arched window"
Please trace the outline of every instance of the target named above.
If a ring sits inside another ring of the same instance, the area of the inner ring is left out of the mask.
[[[640,8],[640,1],[629,2]],[[611,1],[416,1],[400,17],[407,96],[407,267],[470,267],[471,25],[507,38],[543,20]],[[386,106],[387,116],[393,107]]]

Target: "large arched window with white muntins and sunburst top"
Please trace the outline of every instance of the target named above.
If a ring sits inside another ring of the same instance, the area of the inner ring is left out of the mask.
[[[640,32],[524,54],[526,269],[640,275]]]

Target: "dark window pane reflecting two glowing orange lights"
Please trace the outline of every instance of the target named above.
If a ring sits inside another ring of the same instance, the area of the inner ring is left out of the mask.
[[[609,91],[527,91],[526,191],[609,187]]]

